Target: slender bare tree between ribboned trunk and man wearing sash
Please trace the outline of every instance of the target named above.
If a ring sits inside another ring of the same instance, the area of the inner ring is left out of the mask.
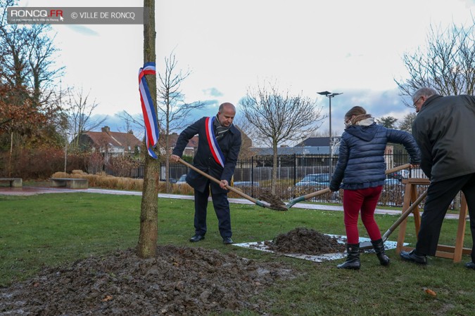
[[[185,103],[182,94],[182,82],[189,77],[190,70],[178,70],[177,58],[174,54],[165,57],[165,72],[158,72],[157,87],[158,119],[162,123],[163,132],[160,145],[165,147],[165,181],[167,192],[170,192],[170,133],[189,124],[190,112],[201,109],[201,102]]]

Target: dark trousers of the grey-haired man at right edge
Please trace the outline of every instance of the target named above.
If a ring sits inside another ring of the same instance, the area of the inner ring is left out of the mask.
[[[472,239],[471,260],[475,262],[475,173],[431,183],[427,191],[421,228],[417,235],[418,254],[436,254],[442,222],[455,195],[462,190],[467,199]]]

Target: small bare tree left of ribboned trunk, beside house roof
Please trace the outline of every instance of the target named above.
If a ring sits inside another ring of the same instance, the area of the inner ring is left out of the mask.
[[[71,144],[74,149],[77,149],[79,145],[80,138],[77,136],[80,136],[81,133],[96,129],[107,119],[107,117],[103,119],[91,118],[92,112],[94,112],[99,104],[96,103],[95,99],[90,100],[89,94],[90,91],[85,94],[82,88],[77,91],[73,89],[68,93],[66,103],[68,104],[69,134],[75,140],[75,142]]]

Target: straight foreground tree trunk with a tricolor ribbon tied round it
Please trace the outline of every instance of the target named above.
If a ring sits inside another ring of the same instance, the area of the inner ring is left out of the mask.
[[[148,13],[148,21],[144,19],[144,63],[155,62],[155,0],[144,0],[144,18]],[[147,75],[153,106],[157,105],[156,76]],[[160,157],[160,156],[159,156]],[[153,258],[157,253],[158,239],[158,169],[159,160],[148,154],[145,158],[144,188],[142,191],[140,212],[140,235],[137,247],[140,258]]]

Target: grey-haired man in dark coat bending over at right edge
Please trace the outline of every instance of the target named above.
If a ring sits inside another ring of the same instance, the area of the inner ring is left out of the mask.
[[[474,96],[440,96],[432,88],[420,88],[412,96],[418,112],[412,134],[421,150],[421,168],[431,179],[415,249],[401,251],[406,261],[426,264],[436,254],[445,213],[462,190],[469,206],[475,269],[475,131]]]

